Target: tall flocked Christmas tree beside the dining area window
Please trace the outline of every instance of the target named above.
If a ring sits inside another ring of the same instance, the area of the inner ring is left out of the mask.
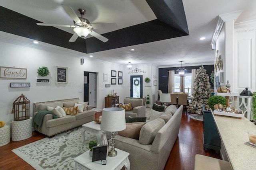
[[[196,78],[194,80],[194,88],[192,92],[191,102],[187,106],[190,113],[202,113],[203,105],[208,104],[208,98],[211,96],[211,86],[209,76],[206,74],[206,69],[201,66],[196,70]]]

